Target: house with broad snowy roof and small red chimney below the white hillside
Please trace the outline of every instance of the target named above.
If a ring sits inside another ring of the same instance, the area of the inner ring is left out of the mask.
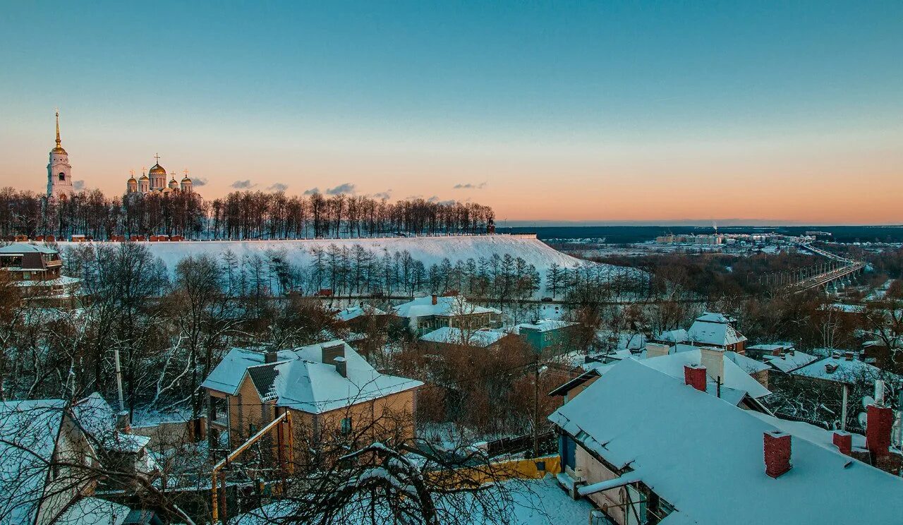
[[[427,295],[415,297],[392,312],[418,333],[427,333],[442,326],[476,330],[498,328],[501,311],[496,308],[474,305],[463,295]]]

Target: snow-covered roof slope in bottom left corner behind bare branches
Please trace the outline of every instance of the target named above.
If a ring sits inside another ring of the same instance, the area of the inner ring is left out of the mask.
[[[65,401],[0,402],[0,523],[31,523],[42,502]]]

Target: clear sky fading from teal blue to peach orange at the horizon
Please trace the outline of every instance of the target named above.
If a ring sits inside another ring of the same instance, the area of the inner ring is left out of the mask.
[[[903,223],[903,2],[5,2],[0,187]],[[545,223],[545,222],[544,222]]]

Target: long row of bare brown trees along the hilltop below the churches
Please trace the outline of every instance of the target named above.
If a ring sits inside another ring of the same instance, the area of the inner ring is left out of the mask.
[[[485,233],[495,214],[475,202],[424,199],[386,202],[356,195],[285,195],[232,192],[204,201],[198,193],[132,193],[107,197],[99,190],[48,200],[34,192],[0,189],[0,235],[180,235],[187,239],[298,239]]]

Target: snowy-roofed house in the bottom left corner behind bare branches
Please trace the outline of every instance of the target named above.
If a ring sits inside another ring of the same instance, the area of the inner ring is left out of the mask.
[[[0,524],[45,525],[94,491],[94,449],[61,399],[0,402]]]

